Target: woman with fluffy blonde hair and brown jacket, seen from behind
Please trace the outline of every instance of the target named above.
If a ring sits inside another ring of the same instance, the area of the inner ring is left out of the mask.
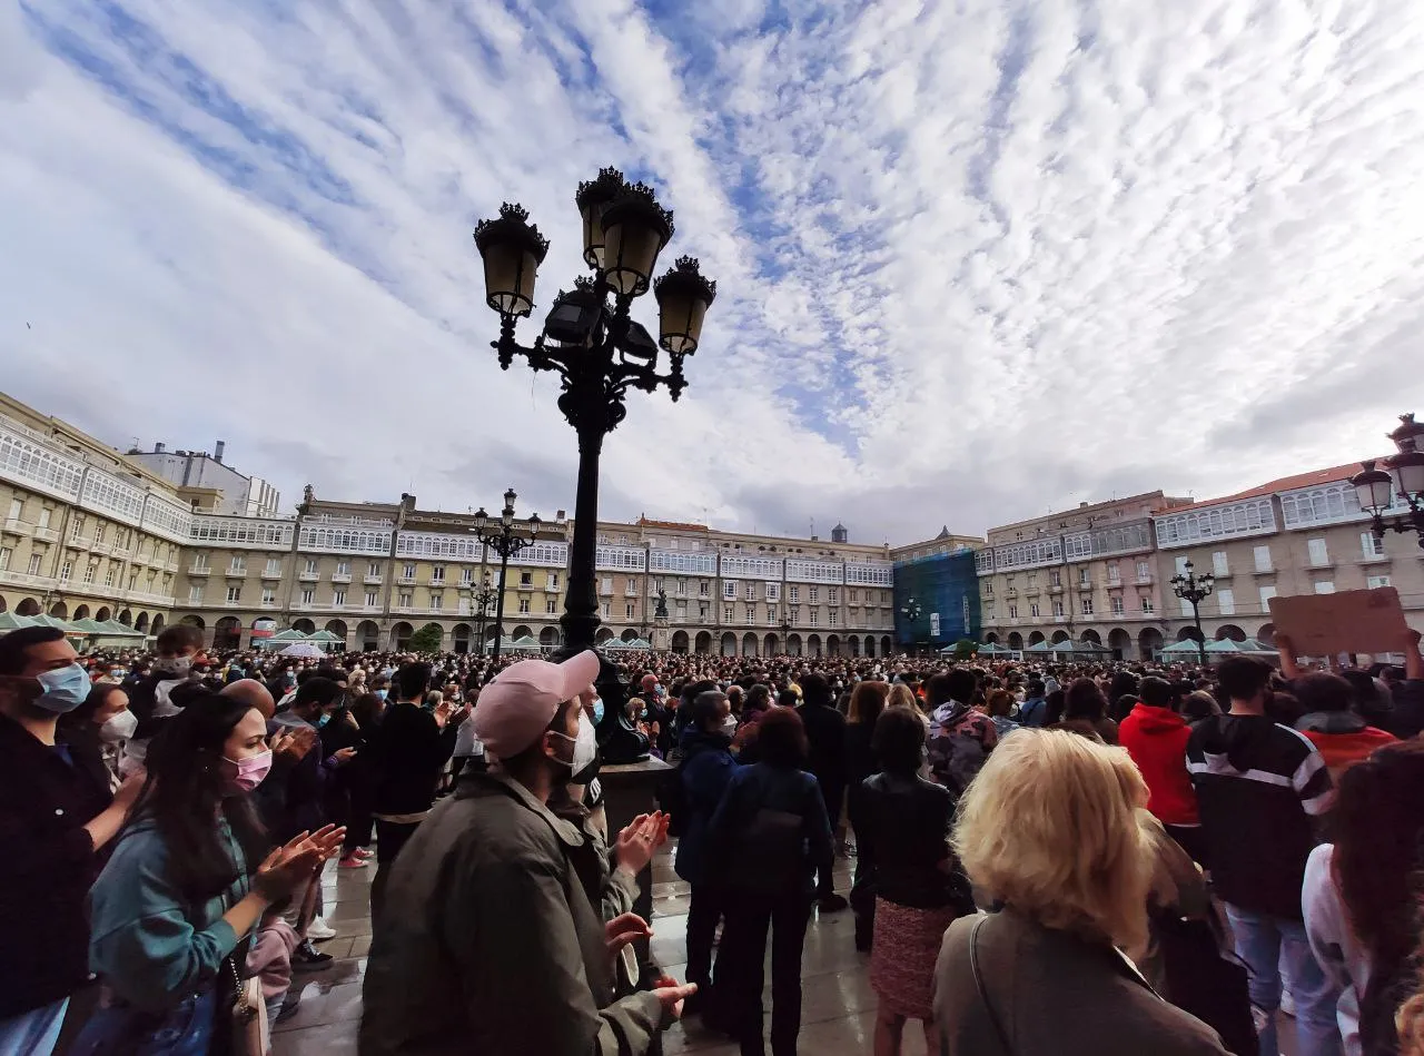
[[[953,845],[998,912],[950,925],[936,965],[946,1056],[1222,1056],[1124,949],[1142,949],[1146,785],[1119,748],[1022,730],[960,799]]]

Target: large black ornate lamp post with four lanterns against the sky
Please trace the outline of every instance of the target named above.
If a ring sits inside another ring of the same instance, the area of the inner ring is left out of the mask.
[[[548,252],[548,239],[528,222],[528,212],[506,202],[496,219],[481,221],[474,244],[484,261],[486,304],[500,316],[500,336],[491,342],[500,368],[523,356],[534,371],[555,371],[562,392],[558,409],[578,435],[578,486],[574,500],[574,534],[570,542],[568,591],[564,600],[565,656],[592,648],[598,630],[598,596],[594,552],[598,533],[598,459],[604,438],[618,428],[628,389],[656,392],[665,386],[676,400],[686,388],[684,359],[698,349],[702,322],[716,296],[716,284],[698,271],[698,261],[682,257],[658,279],[652,278],[658,254],[672,238],[672,214],[652,188],[629,184],[615,168],[582,182],[574,195],[582,219],[584,262],[588,275],[574,279],[572,291],[560,291],[530,346],[514,339],[521,316],[534,311],[534,282]],[[659,311],[659,336],[629,316],[635,298],[654,291]],[[668,353],[668,373],[659,373],[659,349]],[[611,733],[621,700],[617,675],[604,666],[605,727]]]

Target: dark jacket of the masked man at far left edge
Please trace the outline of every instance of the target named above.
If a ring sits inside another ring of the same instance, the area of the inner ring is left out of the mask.
[[[67,748],[68,762],[0,715],[0,1019],[67,998],[90,979],[84,898],[105,855],[84,825],[112,797],[94,747]]]

